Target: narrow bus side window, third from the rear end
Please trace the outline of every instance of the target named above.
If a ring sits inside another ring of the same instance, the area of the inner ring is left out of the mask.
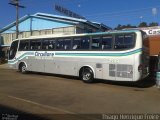
[[[92,50],[100,49],[101,48],[101,38],[100,37],[93,37],[91,47],[92,47]]]

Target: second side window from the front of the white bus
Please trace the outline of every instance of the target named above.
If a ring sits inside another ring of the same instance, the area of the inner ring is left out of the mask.
[[[31,40],[30,49],[31,50],[40,50],[41,49],[41,40]]]

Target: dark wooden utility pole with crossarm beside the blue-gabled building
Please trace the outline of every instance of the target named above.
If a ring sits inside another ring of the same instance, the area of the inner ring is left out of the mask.
[[[19,0],[11,0],[10,5],[13,5],[16,7],[16,39],[18,38],[19,35],[19,28],[18,28],[18,24],[19,24],[19,7],[20,8],[25,8],[25,6],[22,6],[19,4]]]

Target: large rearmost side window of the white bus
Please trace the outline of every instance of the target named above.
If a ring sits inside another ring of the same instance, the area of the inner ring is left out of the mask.
[[[129,49],[134,46],[134,35],[116,35],[115,36],[115,49]]]

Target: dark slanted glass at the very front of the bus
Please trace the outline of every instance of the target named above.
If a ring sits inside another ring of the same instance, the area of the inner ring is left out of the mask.
[[[18,41],[14,41],[11,44],[10,50],[9,50],[9,60],[13,59],[16,55],[18,47]]]

